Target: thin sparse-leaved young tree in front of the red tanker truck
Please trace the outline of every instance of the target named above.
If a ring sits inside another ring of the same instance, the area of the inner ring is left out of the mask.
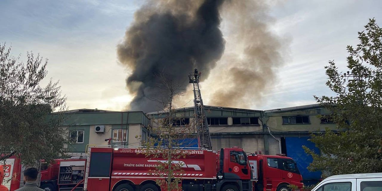
[[[162,89],[158,92],[156,99],[152,99],[161,106],[161,118],[154,121],[154,126],[149,126],[153,136],[147,141],[142,140],[142,145],[146,146],[144,155],[150,159],[164,159],[156,164],[151,173],[158,176],[157,185],[167,191],[179,190],[182,166],[184,163],[180,159],[186,157],[182,147],[189,145],[189,140],[196,138],[195,128],[192,123],[187,123],[185,118],[176,117],[176,107],[173,104],[175,96],[183,95],[182,84],[169,80],[165,74],[160,74],[160,82],[157,86]],[[191,122],[191,120],[189,121]],[[137,136],[139,139],[139,137]]]

